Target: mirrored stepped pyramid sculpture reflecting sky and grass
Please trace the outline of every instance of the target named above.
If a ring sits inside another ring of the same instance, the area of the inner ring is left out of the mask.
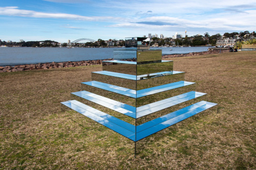
[[[162,60],[161,50],[150,50],[146,38],[125,39],[125,50],[114,50],[114,59],[102,61],[102,71],[63,105],[136,142],[217,104],[206,102],[206,93],[184,81],[184,72],[173,70],[173,61]]]

